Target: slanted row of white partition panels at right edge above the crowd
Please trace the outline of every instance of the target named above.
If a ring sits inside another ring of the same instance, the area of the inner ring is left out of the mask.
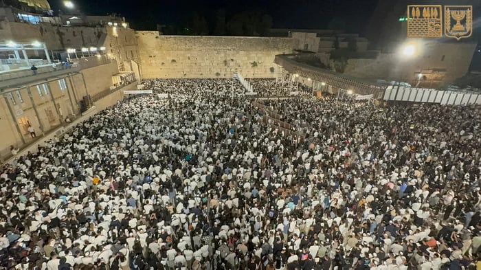
[[[441,105],[469,105],[481,104],[481,94],[389,86],[384,91],[384,100],[437,103]]]

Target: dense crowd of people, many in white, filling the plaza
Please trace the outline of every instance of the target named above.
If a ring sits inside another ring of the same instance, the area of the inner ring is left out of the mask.
[[[480,269],[480,106],[144,85],[3,166],[1,268]]]

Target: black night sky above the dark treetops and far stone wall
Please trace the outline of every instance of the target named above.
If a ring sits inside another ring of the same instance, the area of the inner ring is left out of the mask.
[[[230,15],[259,8],[273,17],[273,27],[324,28],[334,16],[348,19],[346,27],[364,32],[378,0],[72,0],[84,14],[120,13],[137,30],[155,30],[155,25],[181,23],[193,12],[207,19],[223,8]],[[383,0],[387,1],[387,0]],[[61,0],[49,0],[52,9],[63,8]],[[362,5],[359,5],[362,3]]]

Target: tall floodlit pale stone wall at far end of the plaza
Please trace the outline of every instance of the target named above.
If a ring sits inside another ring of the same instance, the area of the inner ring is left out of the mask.
[[[289,54],[293,38],[160,36],[137,32],[143,78],[269,78],[280,74],[276,54]]]

